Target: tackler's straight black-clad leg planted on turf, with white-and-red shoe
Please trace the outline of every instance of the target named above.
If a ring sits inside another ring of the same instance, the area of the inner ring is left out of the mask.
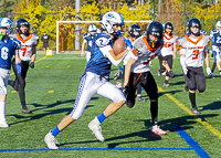
[[[158,124],[158,89],[157,84],[155,82],[154,76],[150,72],[143,73],[143,78],[140,84],[146,91],[146,93],[149,95],[150,98],[150,114],[151,114],[151,122],[152,122],[152,128],[151,133],[156,135],[166,135],[167,131],[159,128]]]

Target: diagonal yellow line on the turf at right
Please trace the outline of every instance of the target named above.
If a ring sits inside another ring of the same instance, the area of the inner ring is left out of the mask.
[[[180,108],[182,108],[185,112],[187,112],[189,115],[191,116],[196,116],[196,114],[192,114],[191,110],[189,108],[187,108],[183,104],[181,104],[178,99],[176,99],[173,96],[171,96],[170,94],[166,93],[161,87],[158,86],[159,92],[164,92],[165,95],[170,98],[172,102],[175,102]],[[212,127],[210,124],[208,124],[207,122],[203,122],[201,118],[197,118],[197,122],[199,122],[200,124],[202,124],[206,128],[208,128],[212,134],[214,134],[215,136],[218,136],[219,139],[221,139],[221,133],[219,130],[217,130],[214,127]]]

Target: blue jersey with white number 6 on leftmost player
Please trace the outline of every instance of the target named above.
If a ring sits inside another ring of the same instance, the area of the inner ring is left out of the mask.
[[[11,59],[15,53],[15,50],[21,49],[21,42],[14,38],[0,40],[0,67],[10,70]]]

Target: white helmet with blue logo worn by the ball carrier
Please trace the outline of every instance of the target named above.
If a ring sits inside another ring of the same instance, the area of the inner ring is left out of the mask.
[[[115,25],[115,24],[124,25],[124,18],[122,17],[120,13],[110,11],[103,15],[102,28],[104,28],[107,31],[107,33],[110,33],[110,34],[117,33],[114,31],[113,25]],[[117,33],[117,35],[119,35],[119,34],[120,34],[120,32]]]

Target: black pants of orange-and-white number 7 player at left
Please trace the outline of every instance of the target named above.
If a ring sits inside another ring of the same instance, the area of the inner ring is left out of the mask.
[[[27,103],[25,103],[25,77],[29,70],[29,61],[21,61],[21,74],[18,74],[17,67],[15,67],[15,61],[12,62],[13,72],[15,74],[15,81],[13,82],[13,88],[15,91],[19,91],[19,97],[22,105],[22,109],[27,109]]]

